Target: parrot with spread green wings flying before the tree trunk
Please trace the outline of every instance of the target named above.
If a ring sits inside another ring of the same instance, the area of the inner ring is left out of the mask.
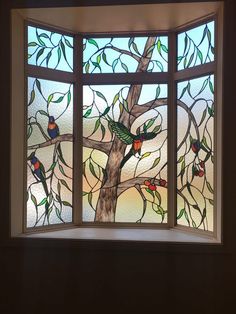
[[[141,155],[141,148],[144,141],[151,140],[157,136],[158,133],[144,132],[137,135],[132,134],[126,126],[120,122],[109,120],[109,125],[113,133],[126,145],[132,145],[128,154],[126,154],[121,161],[120,169],[124,167],[125,163],[137,153]],[[139,129],[138,129],[139,130]]]

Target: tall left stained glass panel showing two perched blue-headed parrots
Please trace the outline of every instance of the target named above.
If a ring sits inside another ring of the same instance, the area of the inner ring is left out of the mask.
[[[72,221],[72,85],[28,78],[27,227]]]

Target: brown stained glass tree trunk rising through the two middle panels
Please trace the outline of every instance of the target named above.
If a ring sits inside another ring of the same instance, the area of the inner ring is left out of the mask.
[[[152,52],[147,55],[148,49],[155,43],[156,37],[147,39],[143,56],[138,64],[136,72],[147,71]],[[146,56],[147,55],[147,56]],[[142,90],[142,85],[131,85],[128,96],[129,111],[137,104]],[[123,110],[119,122],[123,123],[130,129],[130,115],[126,110]],[[120,141],[116,136],[113,141],[108,161],[106,165],[106,176],[103,178],[102,188],[100,190],[95,221],[97,222],[115,222],[116,204],[117,204],[117,189],[120,183],[120,164],[124,158],[126,144]]]

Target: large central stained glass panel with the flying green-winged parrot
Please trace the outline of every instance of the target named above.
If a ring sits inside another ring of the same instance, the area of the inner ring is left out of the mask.
[[[83,95],[83,221],[166,223],[167,85]]]

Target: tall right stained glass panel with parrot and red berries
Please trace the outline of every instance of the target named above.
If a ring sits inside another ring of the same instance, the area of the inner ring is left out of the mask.
[[[177,222],[213,231],[214,76],[178,83]]]

